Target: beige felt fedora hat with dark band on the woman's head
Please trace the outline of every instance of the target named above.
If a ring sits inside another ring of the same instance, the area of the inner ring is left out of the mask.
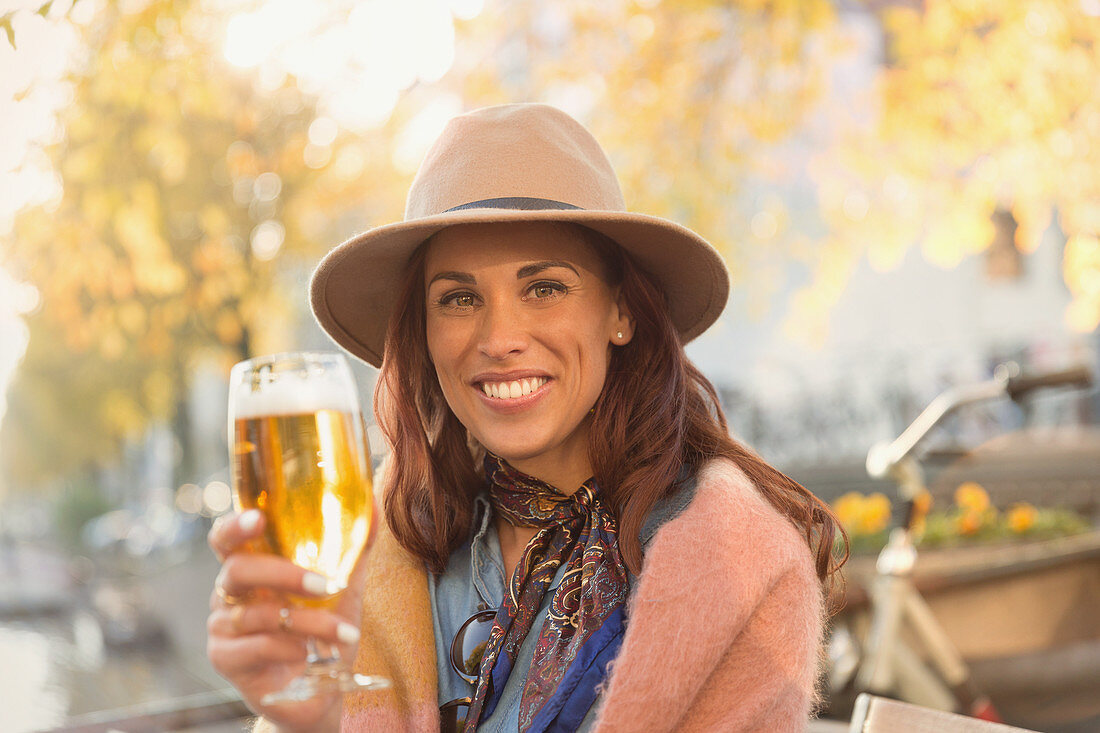
[[[314,315],[337,343],[380,366],[416,248],[447,227],[507,221],[573,222],[618,242],[664,289],[685,342],[726,305],[729,275],[706,240],[673,221],[627,211],[592,133],[554,107],[522,103],[447,123],[409,188],[405,220],[353,237],[321,260],[310,283]]]

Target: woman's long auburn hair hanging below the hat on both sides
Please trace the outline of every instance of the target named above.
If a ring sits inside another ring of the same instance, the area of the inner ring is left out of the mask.
[[[684,353],[663,293],[614,241],[576,229],[600,255],[608,282],[622,288],[635,319],[634,338],[612,349],[588,441],[593,475],[618,522],[626,566],[641,571],[642,523],[673,490],[682,468],[695,474],[722,457],[803,534],[818,579],[831,578],[847,559],[848,543],[828,505],[729,436],[718,395]],[[427,247],[410,258],[389,320],[374,409],[393,449],[383,500],[386,521],[408,551],[432,572],[442,572],[471,532],[473,499],[484,484],[477,460],[483,449],[448,406],[428,354]]]

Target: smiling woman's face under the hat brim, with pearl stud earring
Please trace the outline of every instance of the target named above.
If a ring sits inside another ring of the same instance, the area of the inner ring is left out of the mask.
[[[517,469],[579,486],[610,349],[632,336],[595,251],[564,225],[451,227],[428,247],[425,286],[428,351],[459,420]]]

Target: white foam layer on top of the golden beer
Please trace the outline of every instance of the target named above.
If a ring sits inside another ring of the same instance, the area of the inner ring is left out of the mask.
[[[305,379],[280,374],[278,381],[253,391],[248,382],[235,385],[233,414],[238,419],[267,415],[301,415],[318,409],[348,413],[358,407],[354,390],[338,375]],[[354,402],[349,402],[349,397]]]

